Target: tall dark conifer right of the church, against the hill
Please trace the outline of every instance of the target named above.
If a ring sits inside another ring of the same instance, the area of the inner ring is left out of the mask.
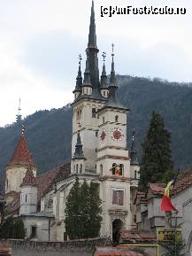
[[[142,143],[142,167],[139,187],[146,191],[148,182],[167,182],[173,178],[170,150],[171,135],[165,129],[163,118],[152,112],[150,127]]]

